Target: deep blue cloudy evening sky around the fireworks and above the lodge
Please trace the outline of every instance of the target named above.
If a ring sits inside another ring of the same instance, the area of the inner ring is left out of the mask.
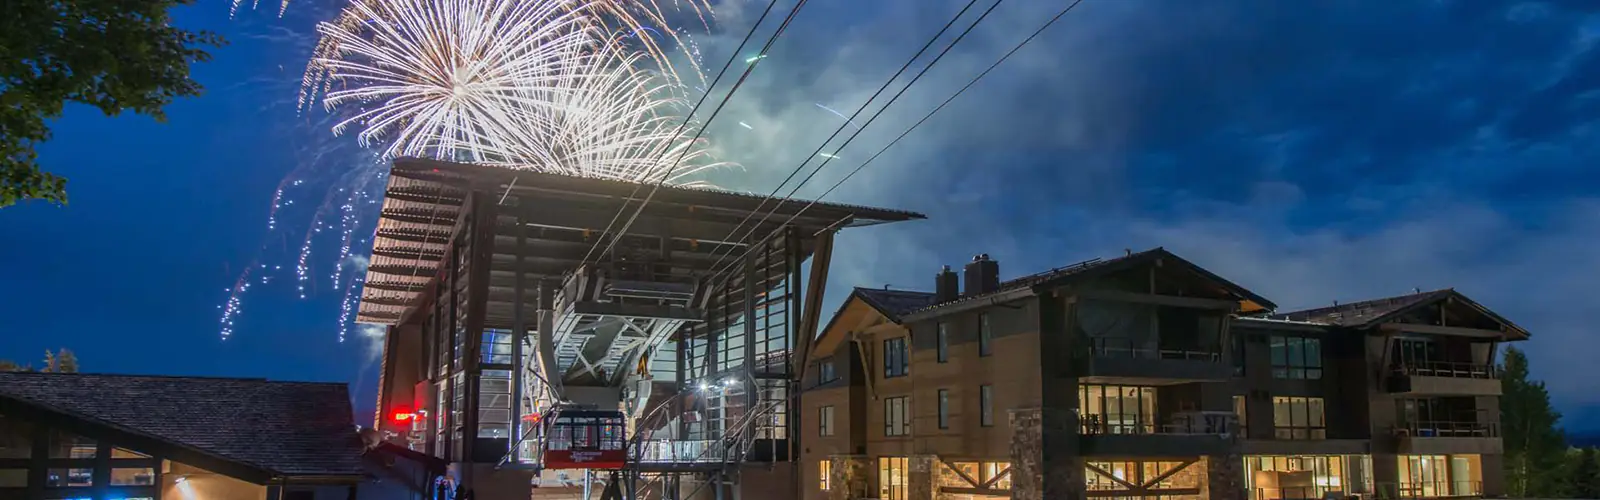
[[[808,3],[710,125],[744,165],[712,181],[771,191],[840,125],[818,103],[850,114],[962,3]],[[973,253],[1016,276],[1162,245],[1285,308],[1456,287],[1530,329],[1566,425],[1600,429],[1581,369],[1600,353],[1586,316],[1600,308],[1600,14],[1582,3],[1085,0],[829,196],[930,215],[848,231],[830,285],[930,288]],[[1003,3],[830,147],[843,163],[800,196],[1061,5]],[[90,370],[347,380],[370,401],[370,345],[338,343],[341,295],[325,282],[304,301],[288,279],[251,290],[234,338],[218,337],[242,266],[261,248],[293,264],[296,237],[266,228],[274,189],[344,144],[294,104],[309,26],[331,6],[186,8],[181,24],[234,42],[195,69],[205,96],[168,123],[86,109],[56,123],[40,160],[70,179],[72,204],[0,210],[0,357],[66,346]],[[698,38],[707,62],[757,10],[718,5]],[[322,179],[344,168],[322,163]],[[307,229],[304,213],[282,224]]]

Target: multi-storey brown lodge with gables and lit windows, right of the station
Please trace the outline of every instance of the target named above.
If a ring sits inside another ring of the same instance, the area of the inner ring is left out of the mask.
[[[1275,312],[1166,250],[856,288],[805,370],[803,498],[1502,492],[1499,343],[1454,290]]]

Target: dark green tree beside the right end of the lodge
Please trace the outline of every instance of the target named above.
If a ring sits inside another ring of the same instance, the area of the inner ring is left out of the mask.
[[[1544,381],[1528,378],[1528,356],[1506,348],[1501,375],[1501,433],[1506,442],[1507,494],[1522,498],[1562,495],[1566,438]]]

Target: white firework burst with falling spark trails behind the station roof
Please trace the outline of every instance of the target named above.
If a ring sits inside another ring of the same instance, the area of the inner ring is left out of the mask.
[[[709,3],[683,5],[710,26]],[[350,0],[331,19],[317,26],[320,40],[290,106],[304,112],[322,101],[328,114],[310,125],[354,131],[373,152],[352,162],[331,143],[309,151],[274,191],[267,231],[286,229],[293,215],[283,210],[307,202],[307,189],[323,191],[322,204],[307,207],[304,232],[288,237],[299,239],[298,248],[283,256],[294,260],[299,298],[322,277],[342,288],[341,341],[360,303],[360,253],[371,244],[389,157],[642,181],[672,168],[662,159],[685,155],[691,165],[669,181],[688,186],[702,184],[696,173],[730,165],[693,139],[696,127],[674,130],[690,85],[706,80],[698,43],[670,29],[654,0]],[[688,54],[683,71],[667,58],[670,45]],[[341,231],[338,242],[317,240],[323,229]],[[330,245],[333,264],[314,274],[314,250]],[[262,245],[229,288],[222,338],[234,333],[250,287],[283,268],[264,264],[274,253]]]

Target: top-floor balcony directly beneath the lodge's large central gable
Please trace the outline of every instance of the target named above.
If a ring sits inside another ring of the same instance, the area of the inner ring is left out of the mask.
[[[1131,338],[1090,338],[1082,383],[1176,385],[1234,375],[1218,351],[1162,349]]]

